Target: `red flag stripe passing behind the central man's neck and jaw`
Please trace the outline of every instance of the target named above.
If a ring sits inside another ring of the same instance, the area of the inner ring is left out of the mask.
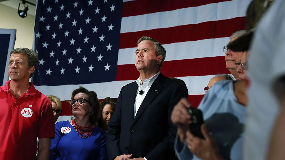
[[[117,73],[116,81],[135,80],[139,77],[135,64],[118,65]],[[224,56],[165,61],[161,73],[166,77],[230,74],[225,67]]]

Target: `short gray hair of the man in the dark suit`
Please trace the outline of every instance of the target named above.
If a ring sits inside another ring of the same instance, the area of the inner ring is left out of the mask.
[[[150,38],[150,37],[141,37],[138,42],[137,42],[137,46],[139,45],[139,43],[143,40],[150,40],[154,43],[154,51],[155,51],[155,56],[162,56],[162,60],[161,62],[159,63],[159,67],[161,68],[162,67],[162,64],[163,64],[163,61],[165,60],[165,54],[166,54],[166,50],[165,48],[161,45],[160,42],[158,42],[158,40],[155,40],[153,38]]]

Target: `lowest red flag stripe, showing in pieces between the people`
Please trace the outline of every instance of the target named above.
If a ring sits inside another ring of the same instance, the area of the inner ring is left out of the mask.
[[[119,96],[119,95],[118,95]],[[204,95],[189,95],[188,100],[191,102],[191,105],[195,108],[198,107],[200,104],[202,98]],[[101,102],[103,99],[99,99],[99,102]],[[72,112],[70,110],[70,104],[67,101],[61,101],[62,102],[62,114],[60,116],[72,116]]]

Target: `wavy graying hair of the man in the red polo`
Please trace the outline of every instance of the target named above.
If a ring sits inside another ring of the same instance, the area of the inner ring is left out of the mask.
[[[29,68],[34,66],[35,67],[34,72],[35,72],[38,66],[38,55],[36,54],[36,52],[28,48],[16,48],[11,51],[10,57],[11,57],[11,54],[17,54],[17,53],[27,55],[27,61],[28,61]],[[30,78],[34,75],[34,72],[31,73]]]

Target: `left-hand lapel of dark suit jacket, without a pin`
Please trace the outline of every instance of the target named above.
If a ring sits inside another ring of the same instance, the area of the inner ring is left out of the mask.
[[[126,106],[130,106],[130,108],[128,109],[128,116],[130,115],[131,117],[129,118],[129,120],[131,120],[131,122],[133,122],[134,120],[134,105],[135,105],[135,100],[136,100],[136,95],[137,95],[137,90],[138,90],[138,85],[137,83],[133,83],[130,92],[129,92],[129,97],[127,98],[127,104]]]

